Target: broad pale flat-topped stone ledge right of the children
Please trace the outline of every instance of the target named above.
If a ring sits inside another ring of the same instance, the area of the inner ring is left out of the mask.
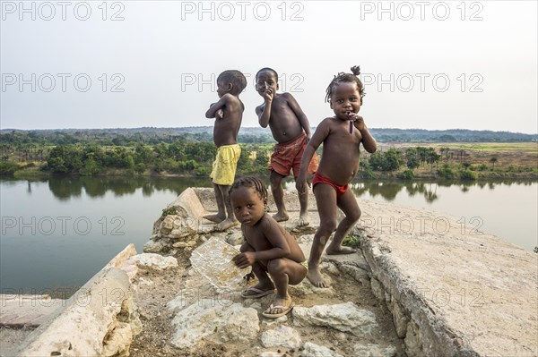
[[[360,208],[377,215],[357,228],[372,291],[408,355],[538,355],[536,254],[447,214],[365,200]]]

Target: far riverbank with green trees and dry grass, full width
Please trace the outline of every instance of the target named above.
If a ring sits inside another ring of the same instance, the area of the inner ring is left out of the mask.
[[[271,144],[241,144],[241,148],[244,155],[239,159],[238,174],[256,174],[265,170],[273,150]],[[34,148],[19,153],[13,149],[0,161],[0,174],[21,178],[47,173],[206,177],[211,172],[214,149],[213,143],[207,141],[107,147],[88,143]],[[379,142],[377,153],[363,153],[358,177],[434,181],[535,180],[538,179],[538,143]]]

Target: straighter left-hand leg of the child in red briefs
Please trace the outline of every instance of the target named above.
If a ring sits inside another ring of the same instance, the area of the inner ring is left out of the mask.
[[[328,287],[319,271],[321,254],[326,242],[336,227],[336,191],[325,183],[317,183],[314,188],[317,212],[319,213],[319,228],[314,234],[314,242],[308,258],[308,280],[317,287]]]

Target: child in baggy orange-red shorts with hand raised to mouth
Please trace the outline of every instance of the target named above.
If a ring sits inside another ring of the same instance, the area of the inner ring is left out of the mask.
[[[263,128],[271,128],[274,152],[271,156],[271,191],[278,212],[273,216],[277,222],[287,221],[290,217],[284,206],[282,179],[290,174],[297,178],[303,152],[310,140],[310,124],[307,115],[290,93],[278,94],[278,74],[271,68],[262,68],[256,73],[256,90],[264,98],[264,103],[256,107],[258,121]],[[308,174],[317,170],[317,157],[308,161]],[[299,192],[299,223],[308,225],[308,192]]]

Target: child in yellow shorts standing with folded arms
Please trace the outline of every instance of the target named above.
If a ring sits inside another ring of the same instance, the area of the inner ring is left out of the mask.
[[[238,132],[245,106],[239,100],[239,94],[247,87],[243,73],[235,70],[221,72],[217,78],[219,101],[213,103],[205,113],[207,118],[215,118],[213,141],[217,147],[217,157],[210,174],[213,180],[215,199],[219,209],[216,215],[204,216],[217,223],[217,230],[224,231],[239,225],[233,216],[230,204],[230,185],[235,179],[236,168],[241,155],[238,144]]]

